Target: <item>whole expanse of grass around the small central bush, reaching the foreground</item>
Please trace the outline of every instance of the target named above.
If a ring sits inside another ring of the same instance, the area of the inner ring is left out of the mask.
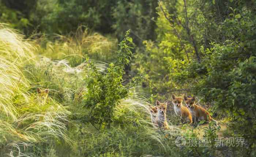
[[[89,112],[80,107],[90,70],[84,58],[98,60],[103,72],[115,43],[83,26],[52,41],[44,34],[25,40],[1,26],[0,156],[182,156],[174,143],[186,133],[154,129],[142,93],[121,100],[110,129],[79,120]],[[37,87],[49,88],[48,99],[41,101]]]

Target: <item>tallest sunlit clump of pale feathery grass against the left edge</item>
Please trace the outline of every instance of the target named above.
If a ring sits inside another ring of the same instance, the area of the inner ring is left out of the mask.
[[[14,103],[22,97],[27,101],[28,81],[20,71],[26,62],[33,62],[32,46],[14,30],[0,26],[0,109],[1,115],[16,119]]]

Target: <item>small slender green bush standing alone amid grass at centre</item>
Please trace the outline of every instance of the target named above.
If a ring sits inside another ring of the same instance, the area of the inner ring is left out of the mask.
[[[89,61],[92,72],[87,79],[87,92],[84,94],[83,107],[90,112],[83,115],[86,122],[90,122],[93,126],[98,125],[98,129],[114,121],[114,110],[119,105],[120,100],[128,96],[128,89],[122,85],[124,66],[131,60],[132,38],[129,31],[125,35],[125,39],[120,42],[120,49],[117,51],[117,59],[115,63],[110,63],[105,73],[97,70],[95,64]],[[95,126],[96,127],[96,126]]]

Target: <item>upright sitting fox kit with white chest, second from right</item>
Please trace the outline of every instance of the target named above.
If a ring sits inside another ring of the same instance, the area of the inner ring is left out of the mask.
[[[181,97],[176,97],[172,94],[173,106],[176,115],[179,115],[182,118],[182,122],[192,123],[192,116],[187,107],[182,105],[183,95]]]

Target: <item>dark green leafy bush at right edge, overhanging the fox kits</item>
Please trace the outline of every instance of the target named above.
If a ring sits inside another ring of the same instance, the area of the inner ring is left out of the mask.
[[[236,119],[232,124],[236,128],[234,134],[248,142],[249,148],[241,150],[247,155],[255,154],[252,138],[255,137],[256,114],[255,29],[252,27],[256,21],[250,4],[244,1],[243,7],[228,8],[229,16],[215,25],[222,38],[225,36],[225,42],[213,42],[209,48],[202,46],[201,60],[182,63],[185,70],[176,74],[177,81],[194,82],[190,84],[192,93],[202,97],[203,102],[214,101],[217,109],[231,113]]]

